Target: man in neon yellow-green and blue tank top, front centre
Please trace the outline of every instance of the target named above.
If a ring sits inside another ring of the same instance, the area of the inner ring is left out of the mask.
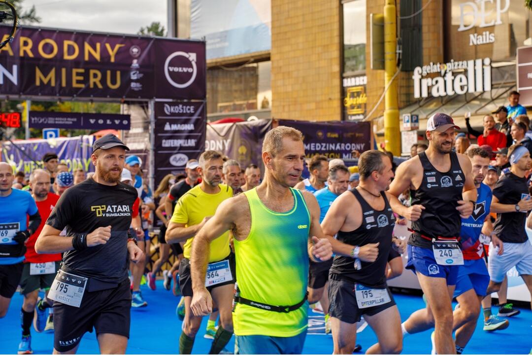
[[[262,183],[222,202],[194,238],[191,308],[201,316],[212,310],[205,289],[209,244],[227,230],[235,236],[239,284],[233,312],[235,353],[301,353],[303,349],[308,258],[326,261],[332,255],[315,197],[292,188],[301,176],[304,158],[300,131],[284,126],[269,131],[262,146]]]

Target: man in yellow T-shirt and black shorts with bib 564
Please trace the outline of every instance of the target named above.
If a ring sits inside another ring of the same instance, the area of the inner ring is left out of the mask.
[[[222,201],[232,196],[232,189],[220,184],[222,178],[222,155],[217,151],[205,151],[200,156],[198,172],[202,176],[202,183],[190,189],[179,199],[172,219],[168,225],[166,240],[168,243],[185,242],[184,259],[179,265],[179,287],[185,298],[185,319],[183,331],[179,337],[179,353],[190,354],[194,339],[200,328],[202,317],[195,317],[190,310],[193,289],[190,279],[191,266],[190,249],[198,230],[211,218]],[[209,291],[220,310],[220,327],[209,353],[218,354],[229,342],[232,336],[231,298],[235,283],[235,259],[230,254],[229,232],[224,233],[211,250],[206,251],[207,260],[213,273],[209,279]]]

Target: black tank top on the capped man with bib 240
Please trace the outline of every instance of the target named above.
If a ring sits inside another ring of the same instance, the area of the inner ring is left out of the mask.
[[[412,222],[412,229],[430,238],[460,236],[461,218],[456,207],[462,200],[465,175],[458,155],[450,153],[451,169],[447,172],[436,170],[425,152],[418,155],[423,166],[423,180],[419,188],[411,192],[412,205],[421,204],[425,210],[420,219]],[[408,243],[425,248],[432,244],[417,233],[412,234]]]

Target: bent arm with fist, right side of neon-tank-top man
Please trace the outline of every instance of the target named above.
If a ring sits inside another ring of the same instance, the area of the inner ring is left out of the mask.
[[[310,192],[303,191],[302,194],[310,212],[309,258],[314,262],[327,261],[332,257],[332,247],[320,226],[320,205]]]

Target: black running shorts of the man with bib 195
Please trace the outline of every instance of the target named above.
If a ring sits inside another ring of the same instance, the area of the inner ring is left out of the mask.
[[[374,316],[377,313],[395,306],[395,300],[388,289],[390,302],[380,306],[359,308],[356,303],[354,284],[346,280],[329,278],[329,315],[345,323],[356,323],[363,315]]]

